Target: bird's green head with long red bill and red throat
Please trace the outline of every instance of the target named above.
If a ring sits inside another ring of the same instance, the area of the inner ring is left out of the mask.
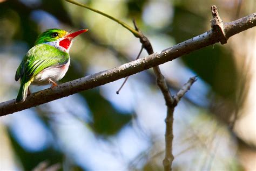
[[[88,29],[83,29],[77,32],[69,33],[65,30],[60,30],[58,28],[48,29],[42,34],[38,35],[35,45],[49,44],[60,49],[61,51],[69,52],[69,49],[72,45],[72,39],[86,31],[88,31]]]

